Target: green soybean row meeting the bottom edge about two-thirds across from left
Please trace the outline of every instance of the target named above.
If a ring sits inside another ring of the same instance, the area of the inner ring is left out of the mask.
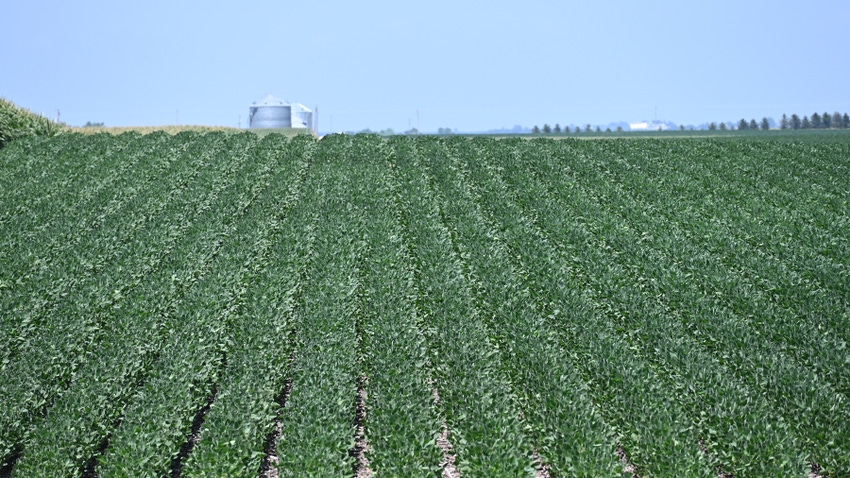
[[[546,324],[550,304],[532,294],[528,272],[516,264],[474,192],[454,151],[424,148],[423,168],[444,194],[446,225],[476,284],[489,335],[510,376],[530,440],[550,473],[619,476],[613,430],[601,418],[568,349]],[[420,193],[422,194],[422,193]]]

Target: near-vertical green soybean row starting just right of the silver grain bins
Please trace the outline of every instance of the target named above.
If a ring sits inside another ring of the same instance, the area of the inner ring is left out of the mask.
[[[341,141],[339,139],[338,141]],[[291,391],[280,416],[279,476],[343,476],[355,463],[358,394],[359,263],[365,247],[362,211],[350,201],[356,171],[344,144],[324,141],[304,201],[318,216],[313,254],[293,318]]]

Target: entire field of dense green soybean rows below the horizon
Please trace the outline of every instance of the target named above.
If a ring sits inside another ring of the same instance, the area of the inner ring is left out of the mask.
[[[844,476],[848,158],[837,133],[21,138],[0,477]]]

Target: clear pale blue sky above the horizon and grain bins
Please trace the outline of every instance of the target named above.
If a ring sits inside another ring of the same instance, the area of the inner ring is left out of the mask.
[[[267,93],[321,131],[850,111],[847,0],[4,3],[0,96],[71,125],[245,126]]]

